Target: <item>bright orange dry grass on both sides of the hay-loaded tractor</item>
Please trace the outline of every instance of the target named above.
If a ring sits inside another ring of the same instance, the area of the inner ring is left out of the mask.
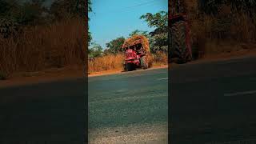
[[[104,70],[123,70],[122,63],[124,61],[124,54],[107,54],[102,57],[94,58],[88,62],[88,72],[90,74],[101,72]],[[168,57],[166,53],[158,52],[152,54],[153,66],[162,66],[168,64]]]

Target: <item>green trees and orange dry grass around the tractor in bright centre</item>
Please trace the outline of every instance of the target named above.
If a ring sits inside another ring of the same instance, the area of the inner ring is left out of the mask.
[[[168,14],[165,11],[160,11],[156,14],[144,14],[141,19],[148,23],[148,26],[154,27],[154,31],[134,30],[129,34],[130,38],[135,34],[142,34],[149,39],[150,53],[152,54],[153,66],[163,66],[168,64],[167,51],[167,29],[168,29]],[[104,70],[122,70],[124,62],[124,54],[122,44],[125,42],[125,37],[119,37],[106,43],[106,48],[95,42],[90,43],[89,48],[89,74],[101,72]]]

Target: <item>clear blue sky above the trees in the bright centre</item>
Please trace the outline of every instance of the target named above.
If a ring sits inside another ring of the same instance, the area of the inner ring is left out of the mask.
[[[128,37],[134,30],[152,31],[154,28],[140,19],[142,14],[168,10],[168,0],[91,0],[89,14],[93,42],[106,48],[114,38]]]

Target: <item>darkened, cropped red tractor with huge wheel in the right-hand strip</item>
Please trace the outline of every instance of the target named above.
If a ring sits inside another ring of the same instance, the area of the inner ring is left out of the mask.
[[[169,10],[169,62],[189,62],[192,60],[190,26],[184,3],[182,0],[170,0]]]

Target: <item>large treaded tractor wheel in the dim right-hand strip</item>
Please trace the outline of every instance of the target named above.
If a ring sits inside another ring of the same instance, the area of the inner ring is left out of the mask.
[[[186,63],[189,57],[189,50],[186,47],[186,23],[183,21],[175,22],[171,27],[171,49],[178,63]]]

